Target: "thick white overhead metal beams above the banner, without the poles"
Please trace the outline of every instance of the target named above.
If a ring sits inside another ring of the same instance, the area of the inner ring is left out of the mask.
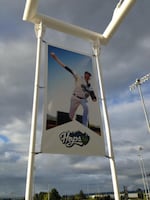
[[[115,33],[124,17],[127,15],[136,0],[120,0],[117,4],[112,20],[108,24],[103,34],[81,28],[61,20],[38,13],[39,0],[27,0],[23,15],[23,20],[39,24],[41,21],[45,26],[67,34],[71,34],[90,41],[100,40],[101,44],[106,44]]]

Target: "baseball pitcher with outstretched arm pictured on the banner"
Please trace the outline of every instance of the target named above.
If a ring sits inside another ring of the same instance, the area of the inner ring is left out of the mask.
[[[73,120],[76,110],[78,109],[79,105],[83,108],[83,115],[82,115],[82,124],[88,126],[88,97],[91,97],[93,102],[97,101],[96,95],[94,90],[90,84],[90,77],[91,73],[88,71],[84,72],[84,76],[80,76],[76,74],[72,69],[70,69],[67,65],[65,65],[56,55],[54,52],[51,52],[51,57],[65,70],[71,73],[75,79],[75,89],[72,93],[71,103],[70,103],[70,111],[69,117]]]

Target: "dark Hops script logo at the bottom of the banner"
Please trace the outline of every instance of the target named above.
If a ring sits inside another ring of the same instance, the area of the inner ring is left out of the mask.
[[[60,133],[59,138],[66,147],[73,147],[74,145],[84,146],[87,145],[90,140],[90,136],[81,131],[63,131]]]

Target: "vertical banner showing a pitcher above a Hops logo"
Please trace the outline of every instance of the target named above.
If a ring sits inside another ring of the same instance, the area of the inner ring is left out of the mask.
[[[47,46],[41,152],[105,155],[92,56]]]

